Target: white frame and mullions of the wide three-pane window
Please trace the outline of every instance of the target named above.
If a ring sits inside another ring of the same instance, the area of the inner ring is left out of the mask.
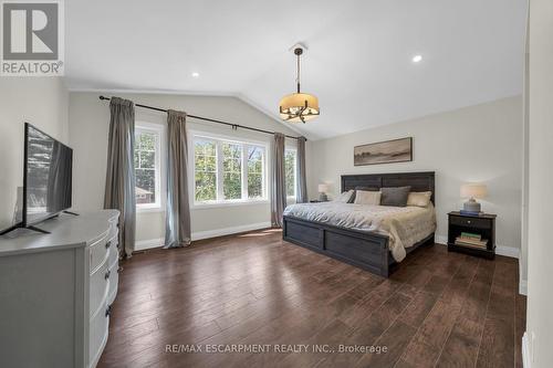
[[[267,141],[254,140],[249,138],[232,137],[227,135],[219,135],[215,133],[200,132],[200,130],[189,130],[191,137],[191,145],[189,147],[190,160],[190,172],[189,172],[189,198],[190,208],[192,209],[206,209],[206,208],[225,208],[232,206],[251,206],[251,204],[262,204],[269,203],[269,144]],[[196,200],[196,155],[195,145],[196,139],[211,140],[216,144],[216,200],[209,201],[197,201]],[[223,199],[223,157],[222,144],[239,144],[242,146],[242,172],[241,172],[241,198],[240,199]],[[264,155],[261,160],[262,165],[262,198],[248,198],[248,148],[249,147],[261,147],[263,148]]]

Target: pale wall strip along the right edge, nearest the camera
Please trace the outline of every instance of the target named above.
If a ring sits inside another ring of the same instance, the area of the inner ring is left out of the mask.
[[[553,367],[553,2],[530,1],[526,343],[532,368]]]

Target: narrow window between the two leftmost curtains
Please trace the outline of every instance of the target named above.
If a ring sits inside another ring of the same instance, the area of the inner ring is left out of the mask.
[[[163,126],[138,124],[135,128],[135,176],[137,209],[161,208],[160,141]]]

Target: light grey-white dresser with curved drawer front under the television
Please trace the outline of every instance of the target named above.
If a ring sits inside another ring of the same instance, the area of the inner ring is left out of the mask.
[[[0,367],[95,367],[117,294],[118,211],[0,236]]]

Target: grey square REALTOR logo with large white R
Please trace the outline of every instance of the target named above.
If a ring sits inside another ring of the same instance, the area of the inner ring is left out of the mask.
[[[39,1],[1,3],[2,75],[63,75],[63,2]]]

